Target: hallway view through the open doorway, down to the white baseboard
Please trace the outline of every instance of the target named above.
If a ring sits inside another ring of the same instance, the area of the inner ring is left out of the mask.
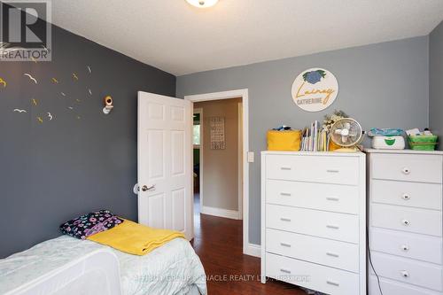
[[[194,199],[196,213],[242,219],[242,99],[193,105]]]

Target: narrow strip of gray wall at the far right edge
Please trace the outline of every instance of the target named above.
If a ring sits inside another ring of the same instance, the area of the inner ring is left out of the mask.
[[[429,36],[429,125],[443,136],[443,22]]]

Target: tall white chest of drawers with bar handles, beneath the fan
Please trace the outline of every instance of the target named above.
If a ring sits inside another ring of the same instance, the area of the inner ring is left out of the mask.
[[[366,294],[361,152],[261,153],[261,282]]]

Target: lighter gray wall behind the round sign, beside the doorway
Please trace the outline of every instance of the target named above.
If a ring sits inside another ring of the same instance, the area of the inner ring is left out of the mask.
[[[250,243],[260,244],[260,151],[266,150],[266,131],[281,124],[303,128],[334,109],[366,129],[425,128],[428,53],[428,36],[423,36],[177,77],[177,97],[249,89],[249,144],[256,152],[250,165]],[[292,102],[291,85],[300,72],[315,66],[335,74],[339,93],[329,109],[307,113]]]

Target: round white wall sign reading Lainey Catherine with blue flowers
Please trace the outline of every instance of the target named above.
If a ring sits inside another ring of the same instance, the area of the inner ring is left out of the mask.
[[[314,67],[303,71],[292,84],[292,99],[307,112],[319,112],[332,105],[338,82],[330,71]]]

